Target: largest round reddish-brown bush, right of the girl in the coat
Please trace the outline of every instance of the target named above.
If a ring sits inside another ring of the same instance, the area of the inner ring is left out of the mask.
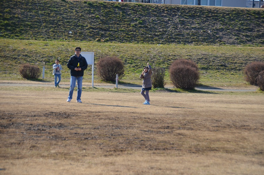
[[[199,80],[198,66],[190,60],[176,60],[170,66],[170,79],[176,88],[194,89]]]

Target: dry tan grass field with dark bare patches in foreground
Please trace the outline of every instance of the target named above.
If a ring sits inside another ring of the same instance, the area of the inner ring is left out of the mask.
[[[264,172],[263,93],[54,89],[1,88],[0,174]]]

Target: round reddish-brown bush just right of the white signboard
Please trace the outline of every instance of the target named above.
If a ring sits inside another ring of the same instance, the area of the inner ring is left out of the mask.
[[[116,74],[119,79],[124,75],[124,63],[116,56],[105,56],[97,63],[97,73],[103,81],[115,81]]]

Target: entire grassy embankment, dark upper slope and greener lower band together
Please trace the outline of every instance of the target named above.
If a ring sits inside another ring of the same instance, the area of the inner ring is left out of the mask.
[[[260,37],[264,28],[261,25],[263,10],[104,1],[38,3],[49,41],[36,41],[46,40],[36,1],[0,2],[2,78],[20,77],[19,65],[26,62],[40,67],[45,62],[45,77],[52,78],[50,67],[56,58],[60,58],[64,67],[63,76],[69,76],[66,63],[75,46],[81,46],[82,51],[95,52],[95,63],[105,55],[119,56],[126,65],[126,76],[123,78],[126,81],[138,81],[138,73],[150,59],[154,67],[168,68],[172,60],[187,58],[199,65],[202,83],[241,83],[244,66],[252,61],[263,61],[263,47],[215,45],[263,46]],[[172,25],[163,45],[145,44],[162,40],[180,7],[179,21]],[[69,31],[73,32],[72,35]],[[96,38],[109,38],[115,42],[89,42]],[[195,43],[205,45],[195,46]]]

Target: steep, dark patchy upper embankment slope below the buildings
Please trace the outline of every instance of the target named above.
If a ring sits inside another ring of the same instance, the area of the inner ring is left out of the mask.
[[[163,44],[264,43],[262,9],[89,0],[2,0],[0,11],[1,38],[160,43],[170,29]]]

